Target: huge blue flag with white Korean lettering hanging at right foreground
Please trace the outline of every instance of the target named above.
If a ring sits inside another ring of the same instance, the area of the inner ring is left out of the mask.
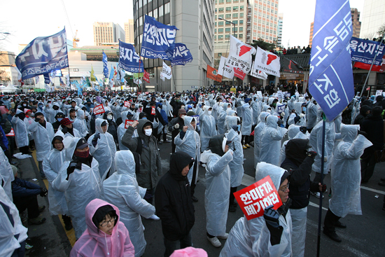
[[[349,0],[317,0],[311,47],[309,91],[328,120],[354,97]]]

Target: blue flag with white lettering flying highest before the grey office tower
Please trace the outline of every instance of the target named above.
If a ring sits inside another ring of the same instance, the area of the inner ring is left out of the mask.
[[[178,29],[175,26],[164,25],[155,18],[146,15],[141,42],[141,56],[168,60],[166,51],[174,48],[176,30]]]

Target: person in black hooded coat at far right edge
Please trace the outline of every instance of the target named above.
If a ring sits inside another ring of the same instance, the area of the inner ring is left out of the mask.
[[[381,113],[382,108],[375,106],[372,109],[372,115],[367,116],[360,125],[360,130],[367,133],[365,137],[373,144],[365,148],[361,156],[361,183],[367,183],[372,177],[376,165],[374,152],[382,150],[384,146],[384,120],[382,120]]]

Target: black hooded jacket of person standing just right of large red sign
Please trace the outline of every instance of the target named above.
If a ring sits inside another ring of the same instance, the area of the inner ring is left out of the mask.
[[[306,154],[308,139],[292,139],[286,144],[286,159],[281,168],[290,173],[290,209],[302,209],[309,205],[310,190],[318,191],[318,183],[310,180],[313,158]]]

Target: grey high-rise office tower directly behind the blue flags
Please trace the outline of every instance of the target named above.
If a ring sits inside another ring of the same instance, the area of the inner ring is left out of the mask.
[[[165,25],[174,25],[175,42],[186,44],[193,55],[193,62],[172,67],[172,79],[162,81],[162,60],[145,59],[144,68],[150,73],[150,83],[144,83],[147,91],[194,90],[213,83],[207,78],[207,65],[214,66],[214,1],[202,0],[133,0],[134,46],[140,53],[145,15]],[[169,64],[169,62],[166,62]]]

